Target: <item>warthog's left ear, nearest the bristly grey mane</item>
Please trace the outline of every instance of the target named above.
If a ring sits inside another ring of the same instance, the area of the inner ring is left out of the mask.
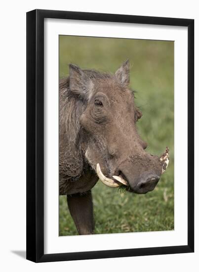
[[[69,64],[69,86],[70,90],[84,99],[88,99],[92,89],[90,78],[81,68],[75,64]]]

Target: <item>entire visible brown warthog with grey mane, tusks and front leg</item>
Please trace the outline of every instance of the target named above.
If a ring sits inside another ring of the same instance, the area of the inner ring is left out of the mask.
[[[70,64],[59,83],[59,190],[79,234],[94,231],[91,188],[100,179],[134,193],[152,191],[169,151],[153,156],[137,133],[141,111],[129,89],[129,61],[115,74]]]

